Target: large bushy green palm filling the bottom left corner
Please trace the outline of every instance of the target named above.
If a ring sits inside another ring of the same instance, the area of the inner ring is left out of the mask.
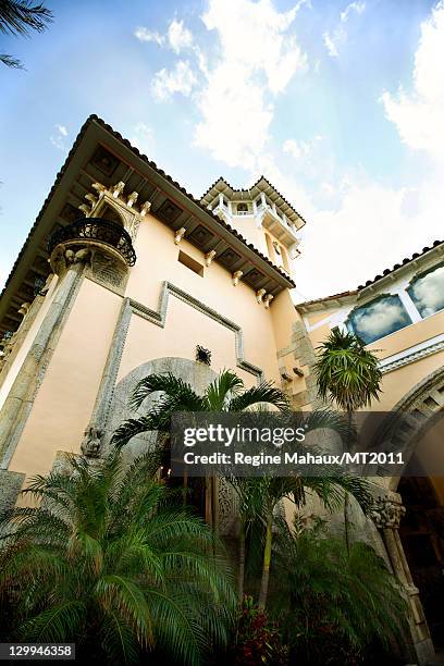
[[[130,468],[120,454],[72,457],[66,471],[36,477],[24,493],[38,506],[3,520],[9,640],[75,642],[88,658],[115,664],[147,653],[205,663],[226,643],[235,607],[210,528],[172,503],[150,456]]]

